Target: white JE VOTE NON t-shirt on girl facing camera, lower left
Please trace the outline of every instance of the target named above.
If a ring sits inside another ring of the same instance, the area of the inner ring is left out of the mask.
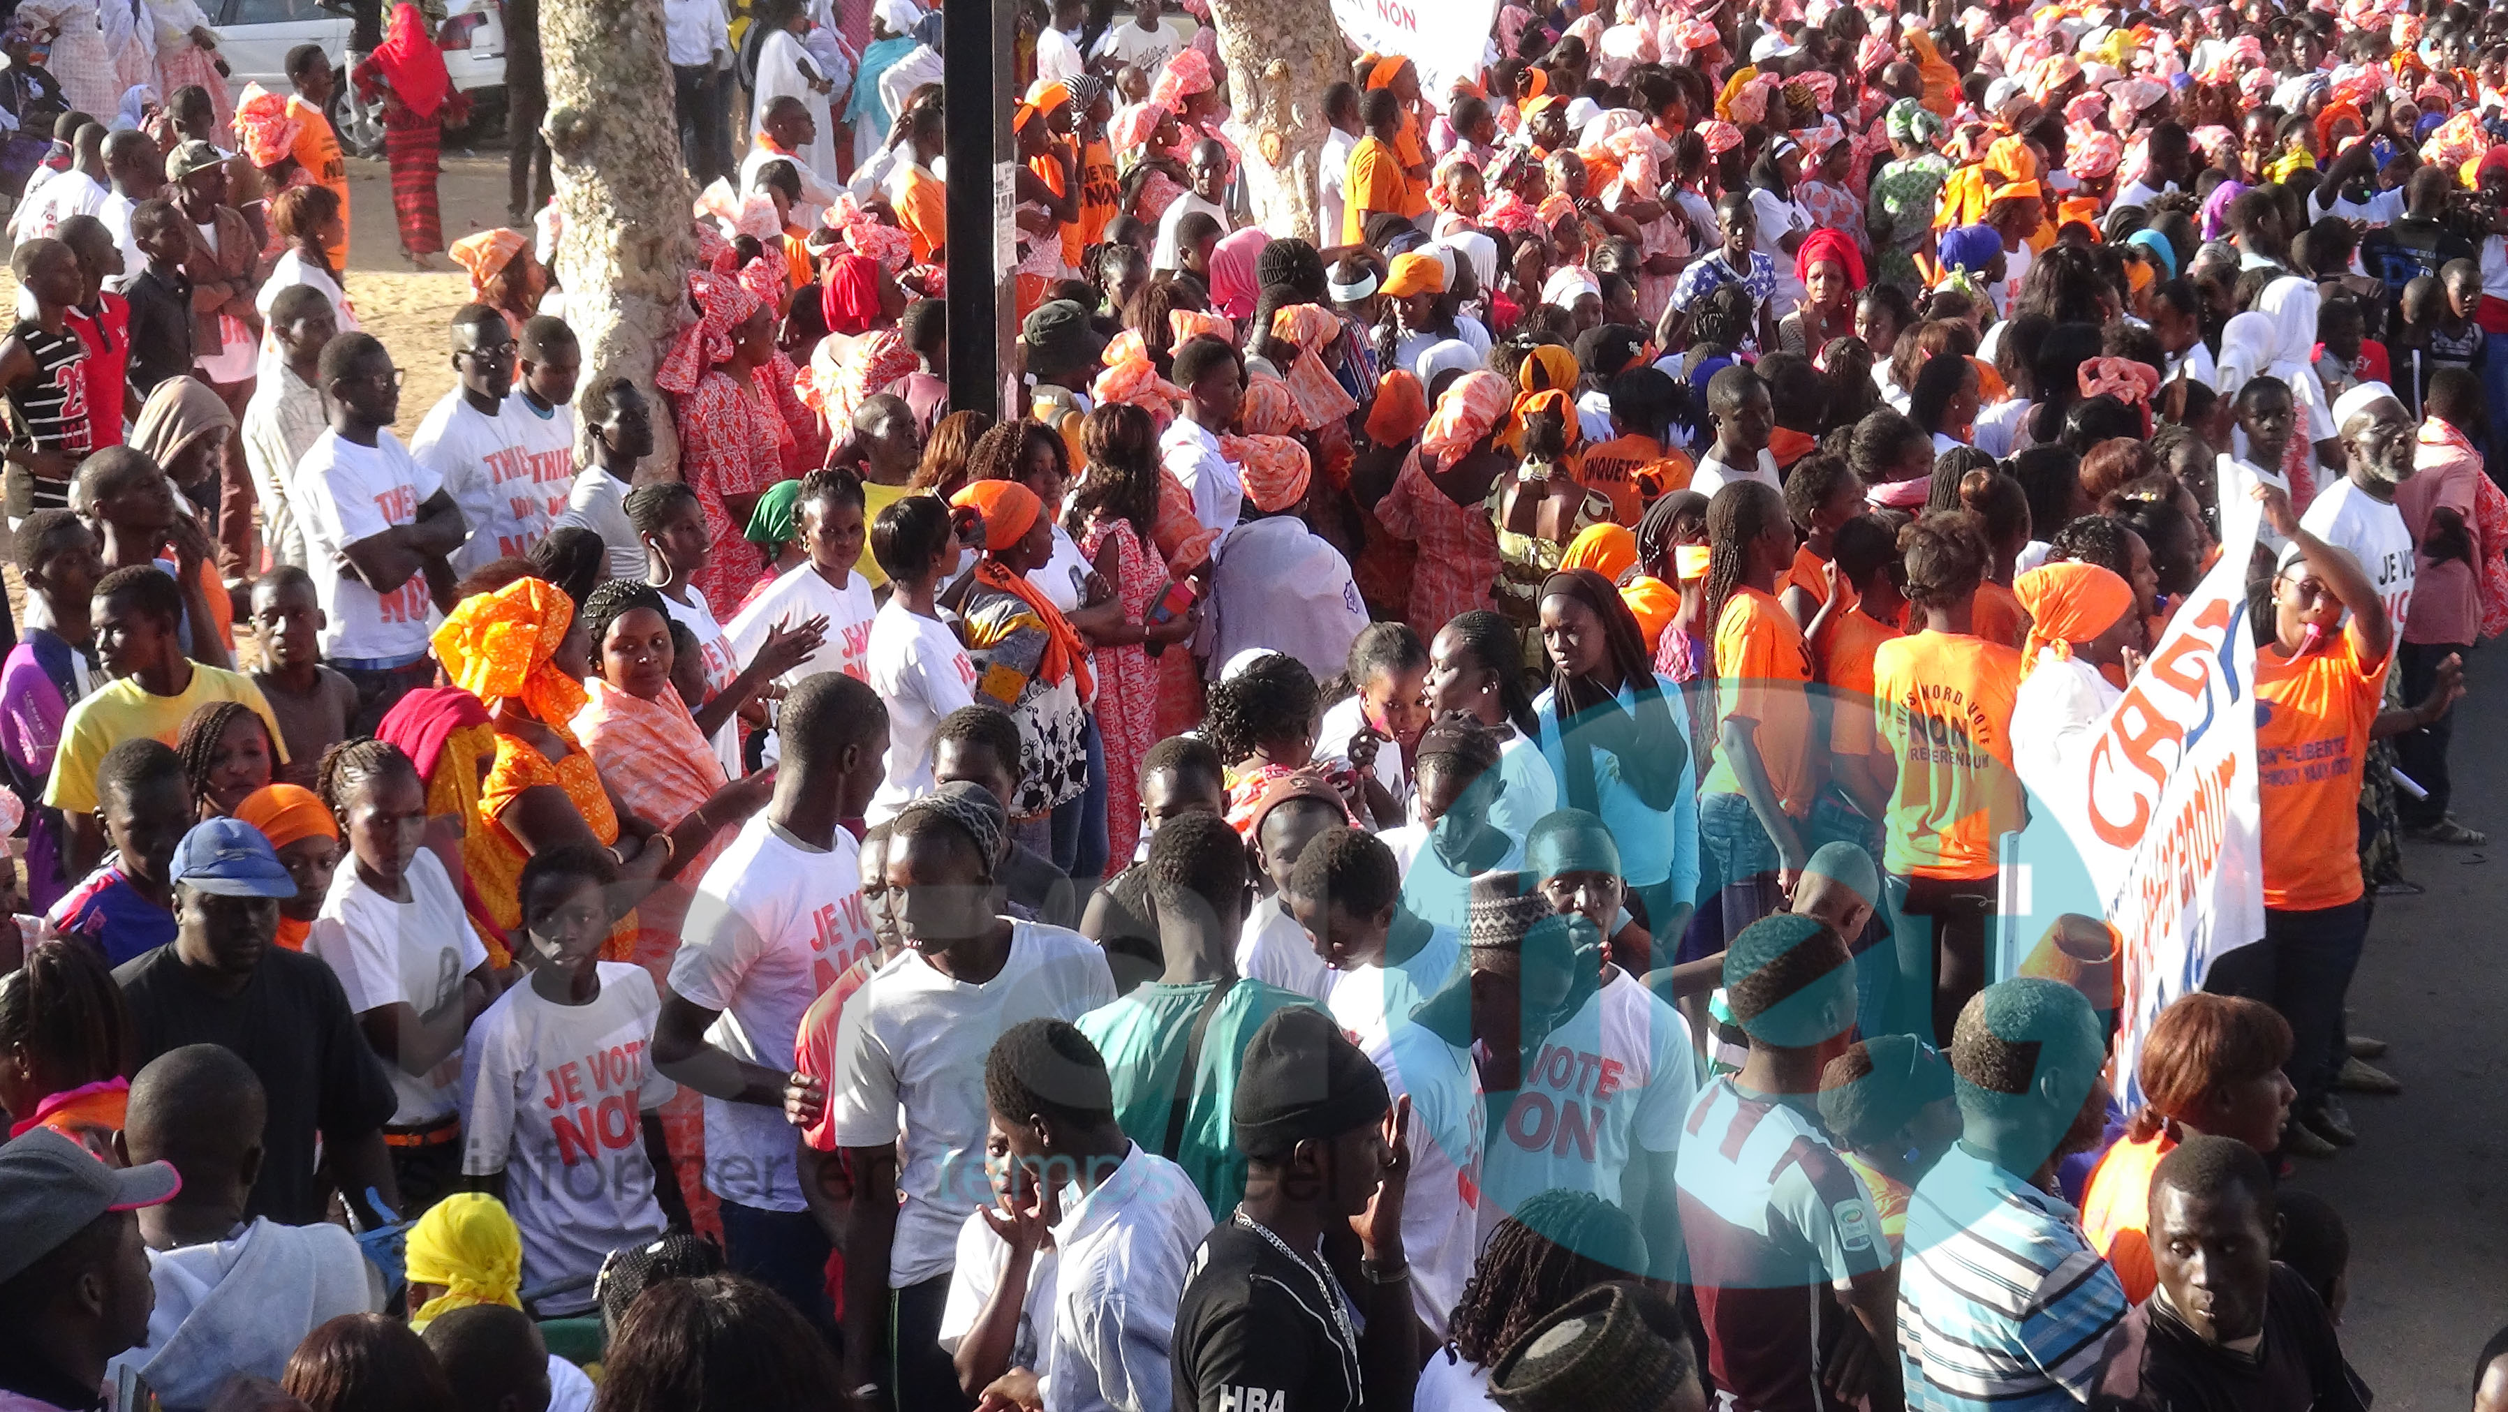
[[[584,1006],[522,981],[461,1043],[461,1171],[504,1171],[522,1226],[522,1284],[602,1269],[614,1249],[662,1239],[642,1119],[677,1091],[652,1066],[662,996],[642,966],[602,961]],[[542,1299],[544,1314],[592,1307],[592,1287]]]

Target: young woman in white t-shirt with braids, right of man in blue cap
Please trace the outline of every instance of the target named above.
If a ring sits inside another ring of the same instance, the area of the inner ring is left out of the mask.
[[[339,976],[399,1106],[384,1126],[401,1201],[424,1211],[461,1171],[461,1036],[497,976],[461,893],[419,845],[426,785],[401,747],[361,740],[324,772],[349,865],[331,875],[306,951]]]

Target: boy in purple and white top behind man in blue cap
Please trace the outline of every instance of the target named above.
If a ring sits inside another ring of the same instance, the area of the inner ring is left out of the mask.
[[[123,740],[95,767],[95,813],[115,860],[45,913],[45,930],[95,946],[120,966],[173,940],[173,848],[196,805],[183,760],[155,740]]]

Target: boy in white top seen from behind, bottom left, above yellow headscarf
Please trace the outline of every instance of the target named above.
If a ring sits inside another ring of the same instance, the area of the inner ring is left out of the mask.
[[[118,1362],[166,1407],[208,1407],[238,1372],[278,1379],[319,1324],[384,1307],[381,1279],[346,1229],[246,1216],[266,1121],[253,1066],[216,1043],[168,1048],[130,1081],[115,1146],[130,1166],[173,1164],[183,1189],[140,1211],[155,1309],[148,1342]]]

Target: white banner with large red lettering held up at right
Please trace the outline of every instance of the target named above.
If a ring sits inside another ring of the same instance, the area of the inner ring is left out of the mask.
[[[2139,1104],[2134,1056],[2169,1001],[2212,961],[2265,935],[2255,772],[2255,632],[2247,622],[2252,502],[2222,497],[2222,554],[2169,617],[2077,777],[2034,808],[2072,800],[2064,833],[2124,948],[2117,1093]]]

